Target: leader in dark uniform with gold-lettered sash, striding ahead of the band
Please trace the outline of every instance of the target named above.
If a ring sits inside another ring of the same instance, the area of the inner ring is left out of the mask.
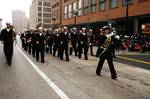
[[[112,58],[112,42],[113,42],[113,32],[109,26],[104,26],[103,27],[103,35],[100,35],[100,42],[99,42],[99,50],[101,52],[99,53],[99,63],[96,69],[96,74],[98,76],[101,75],[101,69],[103,67],[105,59],[108,61],[109,69],[111,71],[111,78],[116,80],[117,79],[117,74],[114,68],[113,64],[113,58]]]

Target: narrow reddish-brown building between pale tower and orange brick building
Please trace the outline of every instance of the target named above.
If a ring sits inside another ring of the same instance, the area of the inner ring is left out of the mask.
[[[61,27],[62,20],[62,0],[52,0],[52,21],[53,28]]]

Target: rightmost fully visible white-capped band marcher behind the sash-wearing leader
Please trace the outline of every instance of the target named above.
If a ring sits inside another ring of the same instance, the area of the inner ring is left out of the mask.
[[[78,38],[78,57],[81,58],[82,53],[84,50],[84,56],[85,56],[85,60],[88,60],[88,37],[87,37],[87,32],[86,32],[86,28],[82,28],[82,31],[80,31],[79,33],[79,38]]]

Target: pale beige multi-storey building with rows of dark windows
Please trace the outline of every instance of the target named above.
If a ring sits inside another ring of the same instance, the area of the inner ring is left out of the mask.
[[[33,0],[30,6],[30,28],[43,27],[48,29],[52,25],[52,0]]]

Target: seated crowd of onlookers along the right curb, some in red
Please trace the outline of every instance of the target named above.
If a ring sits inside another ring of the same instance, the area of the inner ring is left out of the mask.
[[[115,45],[116,50],[128,50],[144,53],[150,51],[150,36],[124,36],[124,38],[116,41]]]

